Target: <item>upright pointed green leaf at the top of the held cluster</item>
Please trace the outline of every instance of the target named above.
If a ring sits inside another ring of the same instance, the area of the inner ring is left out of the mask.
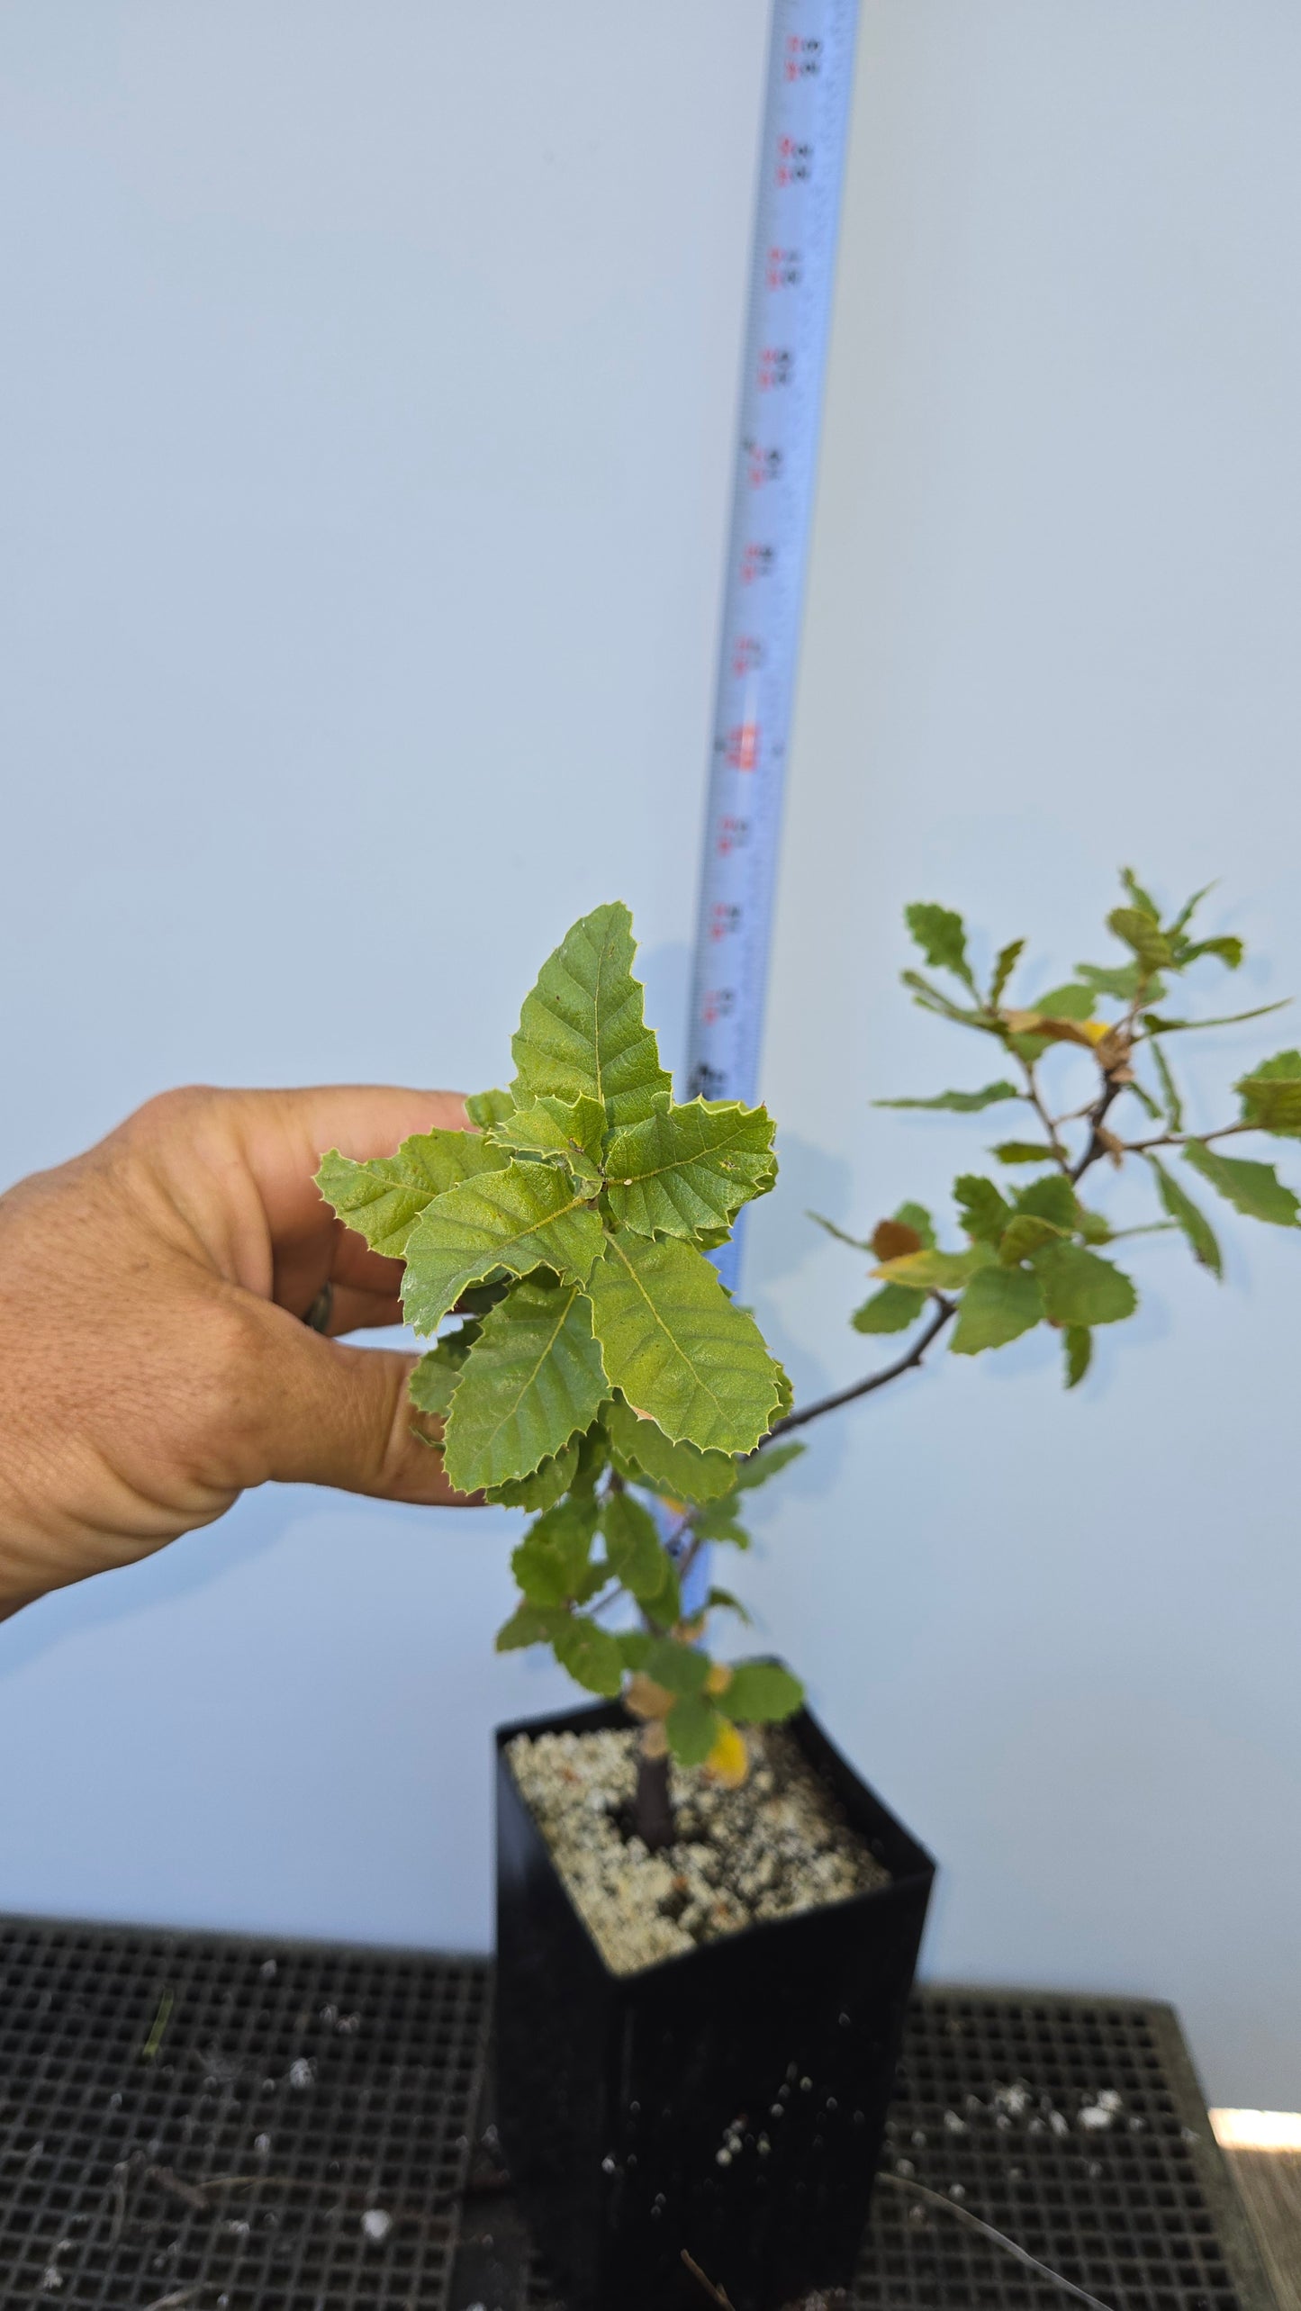
[[[668,1107],[672,1084],[642,1019],[633,917],[615,901],[582,915],[548,957],[513,1035],[515,1100],[601,1100],[610,1130]]]

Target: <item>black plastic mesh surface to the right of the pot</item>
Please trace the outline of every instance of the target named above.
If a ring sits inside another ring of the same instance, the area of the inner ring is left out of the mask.
[[[922,1992],[883,2172],[966,2207],[1114,2311],[1273,2311],[1167,2006]],[[959,2214],[878,2184],[853,2293],[834,2302],[1063,2311],[1070,2295]],[[536,2260],[520,2311],[562,2311]]]

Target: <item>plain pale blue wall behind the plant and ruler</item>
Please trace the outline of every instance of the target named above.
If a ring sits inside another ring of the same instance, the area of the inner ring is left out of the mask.
[[[679,1028],[760,49],[0,12],[0,1176],[185,1077],[492,1079],[612,892]],[[1289,0],[867,5],[751,1236],[802,1391],[862,1290],[802,1206],[994,1137],[867,1105],[980,1068],[904,899],[1058,973],[1118,857],[1220,874],[1301,987],[1299,95]],[[1229,1236],[1075,1400],[1026,1343],[848,1417],[749,1588],[947,1865],[934,1971],[1174,1997],[1296,2103],[1301,1246]],[[511,1530],[263,1493],[5,1625],[0,1904],[481,1944],[488,1729],[557,1692],[488,1652]]]

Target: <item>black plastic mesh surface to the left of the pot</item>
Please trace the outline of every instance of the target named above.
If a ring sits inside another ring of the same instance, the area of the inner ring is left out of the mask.
[[[485,2001],[432,1957],[0,1923],[0,2304],[441,2311]]]

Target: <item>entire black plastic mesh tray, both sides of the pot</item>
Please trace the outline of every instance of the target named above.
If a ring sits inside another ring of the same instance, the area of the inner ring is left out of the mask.
[[[0,1920],[0,2306],[552,2304],[508,2200],[462,2214],[488,2004],[476,1960]],[[890,2165],[1114,2311],[1273,2306],[1165,2006],[922,1994]],[[878,2191],[857,2311],[1068,2302]]]

